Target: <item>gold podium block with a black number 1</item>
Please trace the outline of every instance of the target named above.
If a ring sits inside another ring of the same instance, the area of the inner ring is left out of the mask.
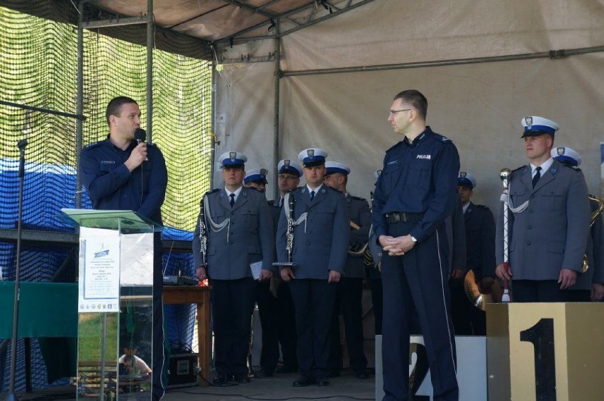
[[[604,303],[486,307],[488,400],[601,400]]]

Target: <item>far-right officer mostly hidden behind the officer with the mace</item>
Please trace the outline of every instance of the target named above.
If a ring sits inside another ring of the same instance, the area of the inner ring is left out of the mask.
[[[554,147],[551,154],[558,162],[574,169],[581,166],[581,155],[570,147]],[[593,196],[589,197],[592,219],[585,252],[589,267],[587,271],[578,274],[575,285],[567,291],[567,302],[599,301],[604,296],[604,227],[600,202]]]

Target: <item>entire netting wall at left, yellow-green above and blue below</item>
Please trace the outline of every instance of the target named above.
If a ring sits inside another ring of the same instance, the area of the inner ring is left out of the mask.
[[[38,2],[40,9],[56,5],[55,1]],[[126,33],[134,30],[132,27],[120,29]],[[83,60],[86,120],[82,144],[106,137],[105,109],[114,96],[137,100],[143,113],[142,126],[148,130],[145,123],[147,49],[86,30]],[[155,50],[153,67],[152,140],[164,153],[169,177],[162,208],[164,224],[192,231],[199,199],[210,187],[211,179],[211,65],[204,60]],[[76,113],[77,30],[74,26],[0,6],[0,101]],[[77,120],[0,104],[0,228],[16,227],[19,157],[16,144],[24,137],[29,142],[24,228],[57,230],[53,220],[56,210],[75,207],[75,193],[79,190],[74,179]],[[82,204],[89,206],[85,198]],[[24,244],[21,280],[49,280],[68,252],[68,249],[51,248],[47,244]],[[0,269],[5,279],[14,276],[14,253],[13,244],[0,240]],[[174,256],[172,259],[176,260]],[[18,391],[23,390],[25,382],[21,343],[19,341],[17,361]],[[0,352],[0,392],[6,390],[8,384],[9,362],[6,351]],[[33,388],[45,387],[47,373],[37,341],[34,341],[32,370]],[[65,379],[55,382],[66,383]]]

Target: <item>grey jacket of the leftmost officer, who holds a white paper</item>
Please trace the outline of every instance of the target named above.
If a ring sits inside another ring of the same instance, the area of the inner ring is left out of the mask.
[[[236,280],[251,277],[250,264],[256,261],[262,261],[262,269],[274,271],[274,228],[264,193],[243,187],[231,208],[225,189],[215,189],[206,193],[204,202],[208,203],[211,218],[217,225],[230,219],[228,225],[215,232],[206,215],[209,278]],[[198,217],[193,237],[196,267],[202,260],[200,247]]]

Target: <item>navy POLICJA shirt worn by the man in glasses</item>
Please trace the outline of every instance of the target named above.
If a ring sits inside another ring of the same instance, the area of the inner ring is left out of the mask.
[[[388,235],[386,213],[425,213],[410,235],[429,237],[452,212],[457,197],[459,154],[447,137],[426,127],[386,151],[376,184],[371,222],[376,239]]]

